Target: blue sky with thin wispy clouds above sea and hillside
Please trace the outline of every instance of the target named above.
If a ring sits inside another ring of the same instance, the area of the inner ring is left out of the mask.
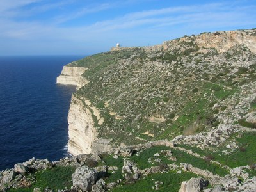
[[[0,0],[0,56],[88,55],[256,28],[256,0]]]

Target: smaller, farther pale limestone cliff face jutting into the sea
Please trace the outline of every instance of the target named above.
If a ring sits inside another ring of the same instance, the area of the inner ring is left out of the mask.
[[[59,84],[67,84],[77,86],[77,90],[87,84],[88,81],[81,75],[87,70],[85,67],[64,66],[60,76],[57,77]]]

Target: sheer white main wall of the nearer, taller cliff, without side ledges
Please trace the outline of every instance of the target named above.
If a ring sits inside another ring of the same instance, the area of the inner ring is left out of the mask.
[[[85,108],[83,102],[74,95],[68,112],[68,124],[68,152],[74,156],[90,154],[97,131],[93,126],[90,109]]]

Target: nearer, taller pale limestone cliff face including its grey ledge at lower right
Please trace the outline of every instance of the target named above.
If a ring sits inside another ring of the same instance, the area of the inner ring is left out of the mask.
[[[88,106],[88,102],[90,103],[89,100],[77,98],[74,94],[70,102],[68,112],[68,152],[75,156],[97,151],[104,152],[111,148],[109,145],[110,140],[97,137],[97,130],[92,118],[92,115],[96,113],[95,107]],[[102,118],[99,118],[98,124],[101,122]]]

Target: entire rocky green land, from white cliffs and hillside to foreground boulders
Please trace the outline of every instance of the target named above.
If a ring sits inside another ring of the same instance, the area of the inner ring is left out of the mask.
[[[63,68],[68,150],[3,191],[256,191],[256,29],[118,47]]]

